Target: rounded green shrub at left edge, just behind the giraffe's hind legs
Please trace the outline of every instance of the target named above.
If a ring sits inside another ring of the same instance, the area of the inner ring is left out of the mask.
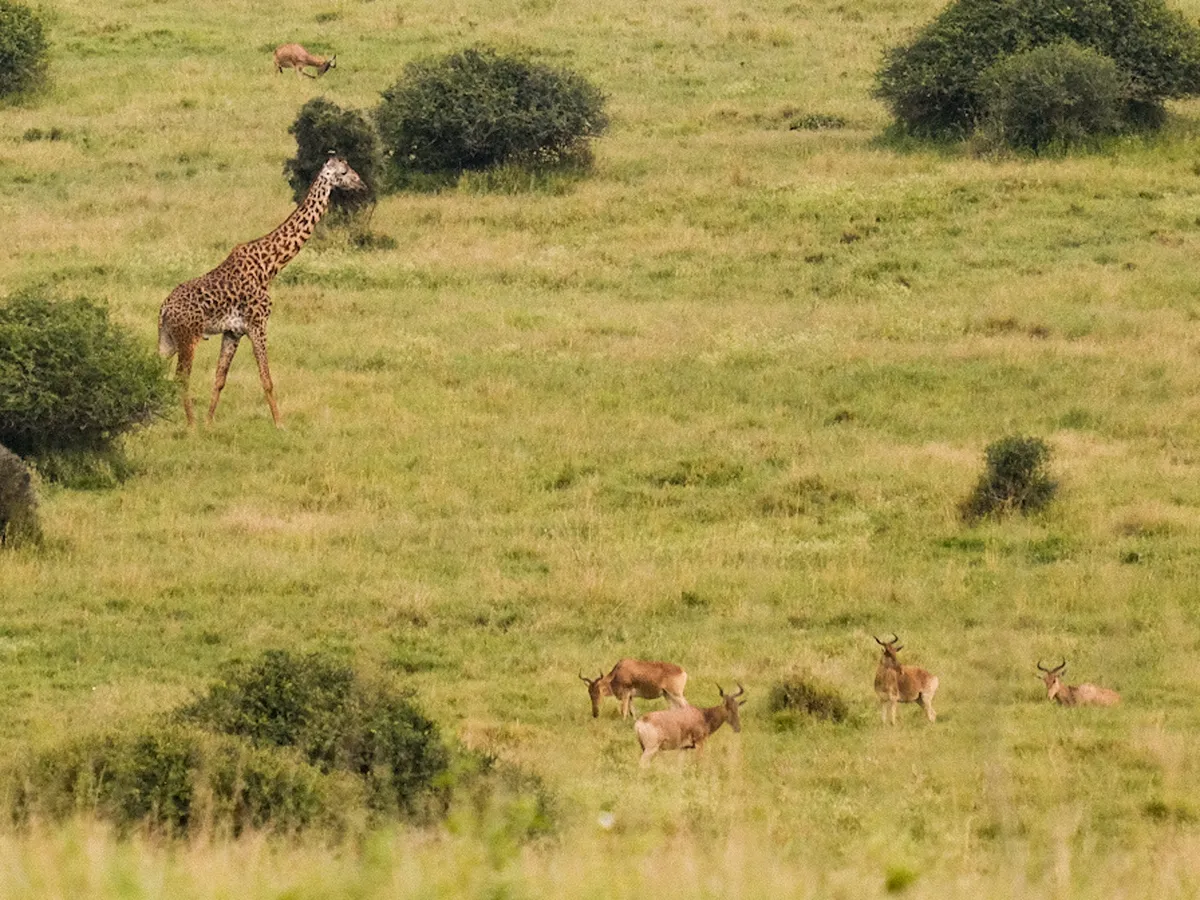
[[[110,454],[175,397],[162,362],[103,305],[35,292],[0,304],[0,444],[13,452]]]

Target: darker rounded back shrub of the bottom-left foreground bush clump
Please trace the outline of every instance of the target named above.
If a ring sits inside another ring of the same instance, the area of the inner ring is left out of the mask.
[[[322,654],[269,650],[235,665],[181,718],[355,775],[377,812],[419,815],[445,800],[450,755],[437,726],[407,697]]]

